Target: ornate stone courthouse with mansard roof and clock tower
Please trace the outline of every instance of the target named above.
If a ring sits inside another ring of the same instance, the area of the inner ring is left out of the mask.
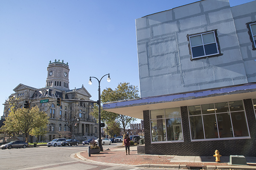
[[[19,108],[24,106],[25,101],[31,102],[30,106],[38,105],[49,116],[49,125],[46,136],[41,136],[39,141],[51,141],[60,136],[69,138],[70,132],[75,135],[75,139],[80,142],[86,138],[96,138],[98,136],[98,125],[96,119],[89,113],[92,111],[91,102],[79,102],[75,100],[90,101],[91,95],[82,85],[81,88],[70,90],[69,87],[69,65],[60,60],[49,62],[47,67],[47,79],[44,88],[33,88],[28,85],[19,84],[10,97],[20,99]],[[61,106],[57,106],[57,98],[61,98]],[[33,103],[46,101],[45,103]],[[63,100],[70,99],[70,100]],[[10,111],[9,99],[4,105],[3,121]],[[54,100],[54,101],[52,101]],[[52,102],[51,102],[52,101]],[[24,136],[20,137],[23,140]],[[35,138],[33,139],[35,141]]]

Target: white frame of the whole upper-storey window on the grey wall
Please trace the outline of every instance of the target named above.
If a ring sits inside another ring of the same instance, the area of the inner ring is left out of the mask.
[[[209,34],[209,33],[213,33],[213,34],[214,34],[214,39],[215,39],[215,44],[216,44],[217,53],[208,54],[208,55],[207,55],[206,52],[205,52],[205,45],[209,45],[209,44],[213,44],[213,43],[214,43],[214,42],[204,43],[203,35],[204,35],[204,34]],[[195,36],[199,36],[199,35],[201,35],[202,45],[195,45],[195,46],[192,46],[191,37],[195,37]],[[215,31],[208,31],[208,32],[204,32],[204,33],[198,33],[198,34],[188,35],[188,37],[189,37],[189,47],[190,47],[192,59],[197,59],[197,58],[202,58],[202,57],[208,57],[208,56],[215,56],[215,55],[219,55],[219,54],[220,54],[220,51],[219,51],[219,49],[218,49],[217,35],[216,35],[216,32],[215,32]],[[199,46],[203,46],[204,55],[203,55],[203,56],[198,56],[198,57],[193,57],[192,48],[194,48],[194,47],[199,47]]]

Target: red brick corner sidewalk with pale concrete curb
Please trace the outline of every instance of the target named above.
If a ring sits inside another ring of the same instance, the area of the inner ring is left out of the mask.
[[[213,153],[214,154],[214,153]],[[213,155],[212,154],[212,155]],[[211,156],[166,156],[137,154],[137,147],[130,147],[130,155],[125,155],[125,147],[110,147],[98,154],[88,156],[87,151],[77,153],[80,159],[98,164],[123,165],[136,167],[157,168],[190,168],[190,169],[234,169],[234,170],[256,170],[256,157],[246,157],[246,165],[229,165],[229,156],[221,156],[221,162],[215,162]]]

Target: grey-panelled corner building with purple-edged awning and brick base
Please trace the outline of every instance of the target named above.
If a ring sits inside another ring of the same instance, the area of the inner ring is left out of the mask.
[[[136,20],[145,153],[256,156],[256,1],[201,0]]]

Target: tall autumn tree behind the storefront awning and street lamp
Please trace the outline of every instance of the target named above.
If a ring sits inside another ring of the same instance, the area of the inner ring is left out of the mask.
[[[111,88],[104,89],[101,94],[101,102],[113,102],[113,101],[120,101],[126,99],[135,99],[139,98],[139,90],[137,86],[130,85],[130,83],[123,82],[119,83],[115,90]],[[94,117],[98,118],[98,105],[94,104],[93,112],[91,113]],[[124,129],[123,134],[125,134],[125,127],[132,121],[136,120],[133,117],[125,116],[122,114],[117,114],[113,112],[103,111],[101,112],[102,122],[107,121],[110,122],[113,119],[118,120]]]

